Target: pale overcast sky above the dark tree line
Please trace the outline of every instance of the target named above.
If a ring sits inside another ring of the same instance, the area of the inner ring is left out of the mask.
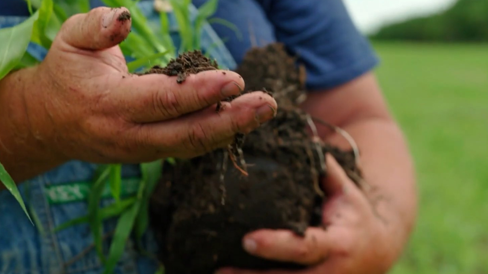
[[[442,11],[455,0],[344,0],[354,22],[371,32],[386,22]]]

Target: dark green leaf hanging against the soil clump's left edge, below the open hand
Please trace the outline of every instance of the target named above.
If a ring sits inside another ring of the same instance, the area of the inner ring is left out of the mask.
[[[142,205],[134,228],[137,240],[142,238],[142,235],[145,233],[149,225],[149,200],[154,188],[161,178],[163,163],[163,160],[158,160],[141,164],[142,180],[144,180],[146,187],[142,194]]]

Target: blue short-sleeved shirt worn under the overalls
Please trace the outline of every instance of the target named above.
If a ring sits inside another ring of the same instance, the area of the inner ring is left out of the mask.
[[[193,0],[198,7],[206,0]],[[102,5],[92,0],[92,6]],[[23,0],[1,0],[0,15],[28,15]],[[371,70],[378,59],[350,19],[342,0],[220,0],[217,34],[239,63],[253,45],[280,41],[305,64],[307,88],[328,89]]]

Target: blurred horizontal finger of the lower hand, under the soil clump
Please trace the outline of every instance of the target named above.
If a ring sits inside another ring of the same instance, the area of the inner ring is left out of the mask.
[[[243,247],[252,255],[304,265],[321,263],[332,239],[321,228],[309,228],[301,237],[288,230],[260,230],[244,236]]]

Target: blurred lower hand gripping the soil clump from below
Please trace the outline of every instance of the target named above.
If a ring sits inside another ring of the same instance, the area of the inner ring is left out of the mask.
[[[221,269],[218,274],[383,274],[399,251],[364,194],[327,155],[324,187],[326,229],[308,228],[305,237],[291,231],[260,230],[244,237],[244,249],[264,258],[309,266],[302,271]]]

